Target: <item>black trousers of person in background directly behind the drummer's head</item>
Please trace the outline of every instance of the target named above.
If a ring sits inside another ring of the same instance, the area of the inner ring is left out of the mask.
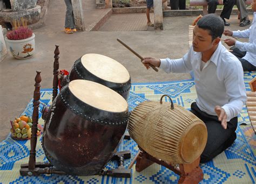
[[[206,0],[208,2],[208,13],[215,13],[215,10],[217,9],[218,0]],[[236,3],[236,0],[224,0],[223,4],[223,10],[221,11],[220,17],[230,19],[230,15],[232,12],[232,8],[234,4]]]

